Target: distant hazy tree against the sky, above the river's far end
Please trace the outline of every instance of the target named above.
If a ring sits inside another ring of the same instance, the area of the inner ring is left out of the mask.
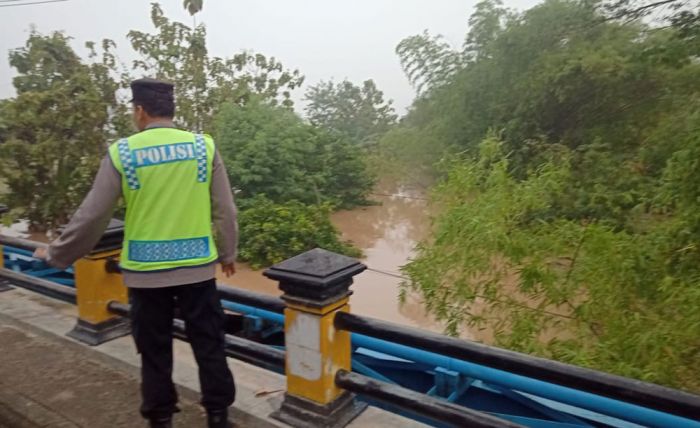
[[[376,143],[396,122],[391,101],[384,100],[372,80],[366,80],[362,87],[347,80],[320,82],[309,87],[304,99],[308,102],[306,116],[313,125],[360,146]]]

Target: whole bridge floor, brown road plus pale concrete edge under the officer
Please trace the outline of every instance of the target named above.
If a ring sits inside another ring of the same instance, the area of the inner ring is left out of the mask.
[[[139,358],[131,337],[89,347],[65,336],[75,306],[23,289],[0,293],[0,427],[142,427]],[[182,412],[176,427],[204,427],[198,378],[187,343],[176,340],[174,380]],[[283,376],[229,359],[236,377],[237,427],[285,427],[269,414],[282,401]],[[369,408],[350,427],[417,427]]]

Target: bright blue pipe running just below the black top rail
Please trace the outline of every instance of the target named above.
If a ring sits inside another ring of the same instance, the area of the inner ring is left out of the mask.
[[[284,315],[261,310],[235,302],[223,301],[224,307],[236,312],[259,316],[260,318],[277,323],[284,323]],[[382,352],[408,361],[443,367],[462,373],[466,376],[480,379],[487,383],[493,383],[505,388],[526,392],[538,397],[547,398],[561,403],[566,403],[596,413],[616,417],[625,421],[634,422],[651,427],[679,427],[700,428],[700,421],[664,413],[646,407],[626,403],[624,401],[606,398],[600,395],[579,391],[573,388],[556,385],[549,382],[532,379],[526,376],[516,375],[504,370],[494,369],[480,364],[457,360],[433,352],[399,345],[362,334],[352,334],[353,346]],[[700,409],[699,409],[700,411]]]

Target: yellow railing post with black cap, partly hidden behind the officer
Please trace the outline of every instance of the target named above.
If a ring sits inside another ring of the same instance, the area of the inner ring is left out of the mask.
[[[129,321],[107,309],[111,301],[128,303],[122,276],[113,269],[121,254],[122,235],[121,222],[113,221],[95,250],[73,265],[78,322],[69,337],[94,346],[129,334]]]

